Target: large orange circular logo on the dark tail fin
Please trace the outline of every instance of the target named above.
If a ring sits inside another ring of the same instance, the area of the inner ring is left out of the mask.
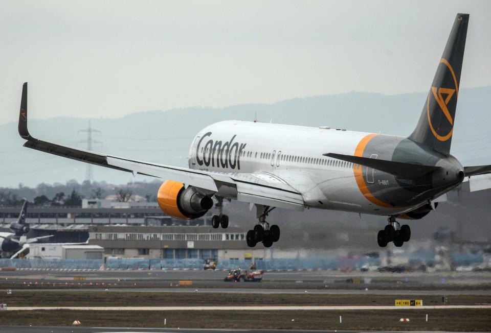
[[[452,118],[452,115],[450,114],[450,111],[447,107],[449,102],[452,100],[452,97],[454,96],[454,93],[456,93],[456,97],[459,94],[459,88],[457,85],[457,78],[455,77],[454,69],[450,65],[450,63],[446,59],[441,59],[440,63],[444,64],[447,66],[447,68],[450,70],[450,73],[452,74],[452,78],[454,79],[454,84],[455,84],[455,89],[453,88],[442,88],[442,87],[431,87],[431,91],[433,92],[433,97],[435,98],[436,103],[440,107],[440,111],[443,113],[445,118],[449,121],[451,128],[450,131],[447,134],[440,135],[438,134],[439,128],[435,130],[433,127],[433,124],[431,122],[431,114],[430,114],[430,94],[428,94],[428,100],[427,100],[427,112],[428,112],[428,124],[430,125],[431,132],[433,135],[440,141],[447,141],[452,137],[452,132],[454,130],[454,120]],[[433,103],[432,103],[433,104]]]

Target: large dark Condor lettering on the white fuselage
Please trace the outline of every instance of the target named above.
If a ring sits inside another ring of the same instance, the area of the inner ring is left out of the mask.
[[[232,136],[230,141],[209,139],[204,143],[205,138],[211,136],[211,132],[204,134],[196,146],[196,162],[199,165],[205,164],[217,168],[230,168],[240,170],[240,157],[247,144],[234,142],[237,135]]]

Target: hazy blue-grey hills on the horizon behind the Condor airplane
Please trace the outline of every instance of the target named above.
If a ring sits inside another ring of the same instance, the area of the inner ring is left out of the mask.
[[[452,142],[452,153],[466,165],[491,163],[491,86],[462,89]],[[96,151],[171,165],[187,165],[189,145],[203,127],[221,120],[250,120],[304,126],[327,125],[355,131],[408,135],[417,123],[426,93],[386,96],[376,93],[349,92],[330,96],[292,99],[274,104],[243,104],[225,108],[191,107],[167,111],[144,111],[121,118],[92,120],[102,131],[95,139]],[[35,109],[35,105],[30,105]],[[15,110],[12,110],[15,112]],[[32,113],[31,113],[32,114]],[[101,114],[103,114],[101,110]],[[84,148],[79,130],[88,120],[77,117],[31,119],[35,137]],[[81,182],[85,164],[50,156],[21,147],[17,123],[0,125],[0,187],[19,183],[35,186],[40,182]],[[133,180],[126,173],[93,167],[94,179],[121,184]],[[139,176],[138,180],[144,177]],[[149,178],[148,180],[151,180]]]

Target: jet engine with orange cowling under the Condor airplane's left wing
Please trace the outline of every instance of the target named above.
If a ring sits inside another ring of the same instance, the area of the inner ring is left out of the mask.
[[[157,202],[167,215],[178,219],[196,219],[205,215],[213,206],[213,200],[196,187],[184,188],[184,184],[166,180],[159,188]]]

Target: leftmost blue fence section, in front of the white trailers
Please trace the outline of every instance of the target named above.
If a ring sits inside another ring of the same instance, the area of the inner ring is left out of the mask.
[[[98,270],[101,259],[0,259],[0,267],[46,270]]]

